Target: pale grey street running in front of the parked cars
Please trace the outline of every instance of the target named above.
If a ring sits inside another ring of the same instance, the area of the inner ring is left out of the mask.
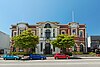
[[[100,67],[100,59],[0,60],[0,67]]]

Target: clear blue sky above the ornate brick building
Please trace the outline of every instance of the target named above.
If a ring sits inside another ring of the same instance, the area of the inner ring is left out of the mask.
[[[100,35],[100,0],[0,0],[0,31],[10,33],[12,24],[20,21],[72,21],[86,24],[88,35]],[[97,29],[98,28],[98,29]]]

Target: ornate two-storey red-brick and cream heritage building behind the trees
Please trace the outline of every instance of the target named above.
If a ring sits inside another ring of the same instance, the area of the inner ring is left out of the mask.
[[[39,44],[35,48],[35,52],[39,54],[54,54],[60,52],[60,49],[53,47],[50,44],[50,40],[56,39],[59,34],[68,34],[75,36],[75,46],[72,51],[85,52],[85,38],[86,38],[86,25],[79,24],[76,22],[70,22],[68,24],[59,24],[59,22],[38,22],[35,25],[29,25],[28,23],[17,23],[16,25],[11,25],[11,36],[16,36],[21,34],[24,30],[28,28],[32,29],[34,35],[39,36]],[[13,43],[13,42],[12,42]],[[15,49],[11,45],[11,51],[22,51],[20,49]]]

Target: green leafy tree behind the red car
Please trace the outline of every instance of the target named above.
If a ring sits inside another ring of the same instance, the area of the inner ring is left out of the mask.
[[[51,41],[54,47],[62,49],[62,52],[66,52],[66,48],[71,48],[74,46],[74,36],[69,36],[65,34],[58,35],[55,40]]]

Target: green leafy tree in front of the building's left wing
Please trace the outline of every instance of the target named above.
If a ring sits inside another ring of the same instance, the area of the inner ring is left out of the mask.
[[[14,36],[12,38],[14,41],[14,46],[16,48],[28,49],[35,48],[39,43],[39,37],[32,33],[31,29],[23,31],[20,35]]]

